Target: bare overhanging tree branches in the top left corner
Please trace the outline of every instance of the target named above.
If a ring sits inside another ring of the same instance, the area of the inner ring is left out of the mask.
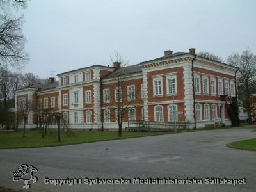
[[[24,50],[23,16],[15,13],[26,4],[26,0],[0,0],[0,65],[22,68],[29,60]]]

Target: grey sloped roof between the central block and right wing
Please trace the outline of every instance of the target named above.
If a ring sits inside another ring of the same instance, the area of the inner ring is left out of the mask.
[[[109,78],[109,77],[115,77],[115,76],[127,75],[127,74],[134,74],[134,73],[138,73],[138,72],[142,72],[140,64],[130,65],[130,66],[127,66],[127,67],[120,67],[120,68],[114,70],[113,72],[109,73],[108,75],[104,76],[103,78],[106,79],[106,78]]]

